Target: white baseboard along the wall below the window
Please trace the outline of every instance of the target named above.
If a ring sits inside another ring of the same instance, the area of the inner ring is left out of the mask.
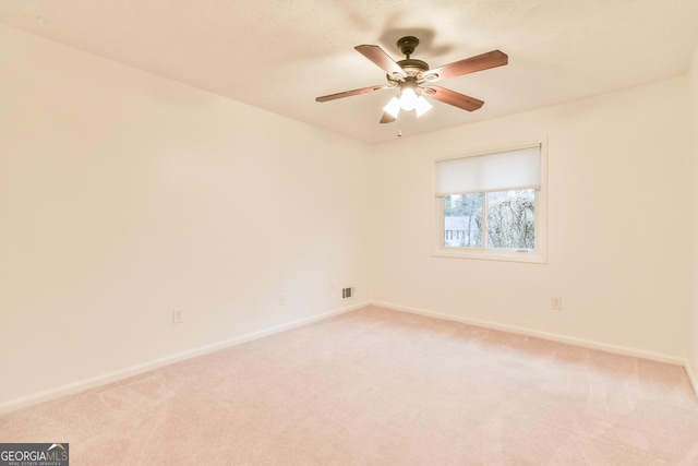
[[[378,306],[381,308],[393,309],[395,311],[410,312],[410,313],[413,313],[413,314],[420,314],[420,315],[425,315],[425,316],[435,318],[435,319],[455,321],[455,322],[460,322],[460,323],[465,323],[465,324],[481,326],[481,327],[485,327],[485,328],[500,330],[500,331],[503,331],[503,332],[515,333],[515,334],[518,334],[518,335],[534,336],[534,337],[538,337],[538,338],[549,339],[549,340],[552,340],[552,342],[558,342],[558,343],[565,343],[565,344],[568,344],[568,345],[581,346],[583,348],[599,349],[599,350],[602,350],[602,351],[614,353],[616,355],[633,356],[633,357],[636,357],[636,358],[649,359],[649,360],[658,361],[658,362],[666,362],[666,363],[674,365],[674,366],[683,366],[684,368],[686,368],[686,372],[687,373],[690,370],[690,366],[688,365],[688,362],[685,359],[676,358],[676,357],[672,357],[672,356],[666,356],[666,355],[662,355],[662,354],[659,354],[659,353],[646,351],[646,350],[636,349],[636,348],[628,348],[628,347],[618,346],[618,345],[610,345],[610,344],[606,344],[606,343],[599,343],[599,342],[594,342],[594,340],[591,340],[591,339],[577,338],[577,337],[573,337],[573,336],[565,336],[565,335],[559,335],[559,334],[554,334],[554,333],[549,333],[549,332],[541,332],[541,331],[520,327],[520,326],[516,326],[516,325],[500,324],[500,323],[496,323],[496,322],[491,322],[491,321],[485,321],[485,320],[480,320],[480,319],[471,319],[471,318],[464,318],[464,316],[460,316],[460,315],[445,314],[445,313],[441,313],[441,312],[433,312],[433,311],[428,311],[428,310],[424,310],[424,309],[418,309],[418,308],[410,308],[410,307],[407,307],[407,306],[394,304],[394,303],[390,303],[390,302],[373,301],[372,304],[373,306]],[[697,390],[698,384],[696,383],[697,382],[696,378],[693,377],[691,374],[689,374],[689,379],[690,379],[690,382],[693,383],[694,390]],[[697,391],[697,393],[698,393],[698,391]]]

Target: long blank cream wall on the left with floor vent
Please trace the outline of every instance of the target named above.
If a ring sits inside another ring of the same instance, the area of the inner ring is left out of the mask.
[[[370,299],[366,145],[7,27],[0,62],[0,406]]]

